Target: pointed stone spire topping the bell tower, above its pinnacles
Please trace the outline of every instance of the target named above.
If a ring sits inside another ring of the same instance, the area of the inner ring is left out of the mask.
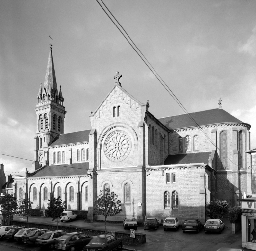
[[[55,69],[54,69],[54,63],[53,63],[53,56],[52,56],[52,44],[50,44],[50,52],[49,52],[47,68],[46,68],[44,88],[47,91],[51,90],[51,88],[54,91],[58,89],[56,75],[55,75]]]

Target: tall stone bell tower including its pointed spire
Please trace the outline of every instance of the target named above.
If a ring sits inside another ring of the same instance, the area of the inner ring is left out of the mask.
[[[63,103],[64,98],[62,96],[61,86],[58,92],[53,64],[52,44],[50,44],[45,82],[44,86],[40,84],[35,107],[36,133],[34,138],[34,170],[49,165],[48,146],[56,136],[64,133],[66,111]]]

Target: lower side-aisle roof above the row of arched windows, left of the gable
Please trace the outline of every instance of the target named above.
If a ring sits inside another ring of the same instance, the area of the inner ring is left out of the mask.
[[[29,175],[29,178],[35,177],[52,177],[52,176],[75,176],[75,175],[86,175],[89,169],[89,162],[74,163],[74,164],[61,164],[45,166],[34,173]]]

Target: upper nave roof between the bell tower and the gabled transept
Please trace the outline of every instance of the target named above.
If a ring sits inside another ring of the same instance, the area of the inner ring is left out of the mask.
[[[60,134],[53,140],[50,146],[58,146],[58,145],[89,141],[90,131],[91,130]]]

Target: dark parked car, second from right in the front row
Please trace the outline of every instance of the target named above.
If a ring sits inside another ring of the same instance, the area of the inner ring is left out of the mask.
[[[67,233],[55,241],[55,248],[75,251],[82,249],[91,239],[92,237],[84,233]]]

